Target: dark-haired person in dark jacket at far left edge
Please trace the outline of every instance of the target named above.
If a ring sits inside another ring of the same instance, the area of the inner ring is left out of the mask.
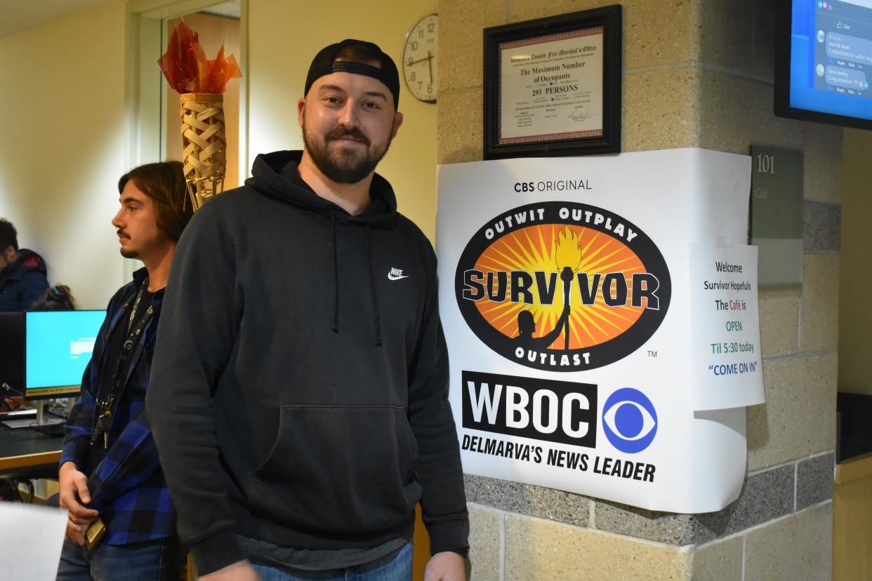
[[[0,312],[26,311],[48,287],[43,257],[19,249],[15,226],[0,219]]]

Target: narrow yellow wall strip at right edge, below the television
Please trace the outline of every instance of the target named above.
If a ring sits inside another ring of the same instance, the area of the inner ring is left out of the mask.
[[[872,395],[872,132],[846,129],[841,175],[839,391]]]

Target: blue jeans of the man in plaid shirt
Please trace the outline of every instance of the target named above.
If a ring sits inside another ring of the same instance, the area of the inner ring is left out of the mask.
[[[89,553],[67,539],[60,553],[58,581],[179,581],[179,539],[138,544],[99,544]]]

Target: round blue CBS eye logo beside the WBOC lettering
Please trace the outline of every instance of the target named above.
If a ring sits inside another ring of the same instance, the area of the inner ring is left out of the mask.
[[[636,454],[657,435],[657,411],[638,389],[618,389],[603,405],[603,429],[612,446]]]

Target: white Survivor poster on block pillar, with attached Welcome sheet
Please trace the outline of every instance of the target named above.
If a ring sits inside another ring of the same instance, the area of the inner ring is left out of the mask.
[[[763,402],[750,172],[701,149],[439,166],[466,472],[672,512],[739,496]]]

